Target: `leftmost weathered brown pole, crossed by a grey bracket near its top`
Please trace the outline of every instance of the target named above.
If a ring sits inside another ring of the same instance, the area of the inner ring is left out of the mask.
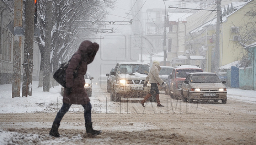
[[[22,0],[14,1],[14,27],[22,27]],[[14,36],[12,98],[20,97],[22,37]]]

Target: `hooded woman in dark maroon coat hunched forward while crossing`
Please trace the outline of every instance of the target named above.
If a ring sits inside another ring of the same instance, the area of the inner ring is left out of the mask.
[[[97,43],[83,41],[80,44],[78,51],[75,52],[71,58],[68,68],[66,69],[66,88],[64,90],[63,105],[54,119],[52,129],[49,133],[50,135],[55,137],[60,136],[58,132],[60,121],[65,113],[68,112],[71,104],[81,104],[84,107],[86,133],[98,135],[102,132],[101,130],[98,131],[92,129],[91,103],[84,89],[84,75],[87,71],[87,64],[90,64],[94,60],[98,48],[99,45]],[[74,76],[75,70],[76,75]]]

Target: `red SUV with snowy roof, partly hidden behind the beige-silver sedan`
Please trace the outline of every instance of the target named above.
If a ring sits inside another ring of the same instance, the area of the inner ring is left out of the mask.
[[[178,99],[181,98],[181,86],[183,81],[186,79],[187,75],[190,73],[199,73],[203,72],[198,65],[177,65],[169,76],[169,86],[166,86],[168,89],[168,94],[171,98]]]

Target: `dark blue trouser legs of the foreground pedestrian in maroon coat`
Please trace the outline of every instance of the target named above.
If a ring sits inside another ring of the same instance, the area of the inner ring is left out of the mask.
[[[63,103],[62,108],[60,108],[59,112],[57,113],[54,122],[57,124],[60,124],[60,121],[62,120],[63,116],[68,112],[71,104]],[[82,104],[84,107],[84,118],[85,123],[91,122],[91,103],[88,102],[87,104]]]

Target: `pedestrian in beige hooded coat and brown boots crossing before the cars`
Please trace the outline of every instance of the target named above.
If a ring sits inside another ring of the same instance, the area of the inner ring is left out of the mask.
[[[140,102],[143,107],[144,103],[148,100],[149,97],[155,95],[156,96],[156,102],[158,103],[158,107],[164,107],[161,105],[160,100],[159,100],[159,90],[158,90],[158,85],[164,84],[164,81],[159,77],[159,71],[161,70],[161,67],[159,66],[159,61],[153,61],[152,68],[149,70],[149,74],[145,79],[145,82],[143,84],[143,87],[146,87],[148,84],[148,81],[151,84],[150,87],[150,93],[144,97],[144,99]]]

